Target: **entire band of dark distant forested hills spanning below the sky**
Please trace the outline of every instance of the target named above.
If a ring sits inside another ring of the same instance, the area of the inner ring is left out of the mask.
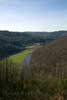
[[[0,57],[9,56],[35,43],[46,44],[67,36],[67,31],[58,32],[10,32],[0,31]]]

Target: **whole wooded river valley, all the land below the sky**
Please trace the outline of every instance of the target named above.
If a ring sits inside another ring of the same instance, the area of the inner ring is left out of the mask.
[[[66,91],[67,31],[0,32],[2,100],[67,100]]]

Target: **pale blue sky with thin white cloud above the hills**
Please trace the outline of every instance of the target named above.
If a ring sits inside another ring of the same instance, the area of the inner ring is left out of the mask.
[[[67,30],[67,0],[0,0],[0,30]]]

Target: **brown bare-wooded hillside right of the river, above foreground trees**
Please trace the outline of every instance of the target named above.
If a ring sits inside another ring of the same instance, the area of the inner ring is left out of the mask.
[[[48,68],[67,66],[67,37],[38,48],[33,53],[31,63]]]

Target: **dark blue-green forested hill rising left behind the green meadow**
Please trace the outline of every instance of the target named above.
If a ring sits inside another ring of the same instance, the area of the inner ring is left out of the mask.
[[[45,43],[45,40],[25,32],[0,31],[0,57],[20,52],[34,43]]]

